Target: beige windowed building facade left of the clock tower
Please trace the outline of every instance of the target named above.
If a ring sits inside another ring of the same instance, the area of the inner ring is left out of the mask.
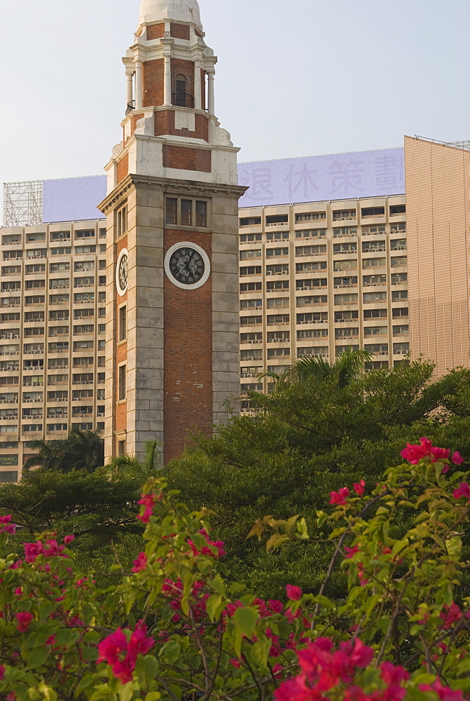
[[[0,229],[0,480],[28,442],[104,430],[106,227]]]

